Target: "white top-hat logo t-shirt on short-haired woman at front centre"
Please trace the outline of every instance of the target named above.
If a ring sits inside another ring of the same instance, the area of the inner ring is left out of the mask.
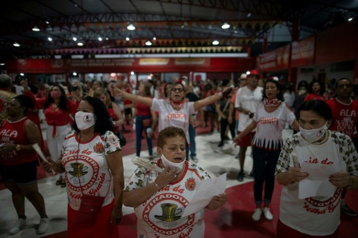
[[[150,163],[159,165],[160,159]],[[210,176],[196,164],[185,161],[186,169],[179,182],[170,183],[134,208],[137,216],[138,238],[204,237],[205,208],[181,217],[184,208],[194,197],[201,180]],[[138,167],[130,176],[125,191],[153,183],[158,173]]]

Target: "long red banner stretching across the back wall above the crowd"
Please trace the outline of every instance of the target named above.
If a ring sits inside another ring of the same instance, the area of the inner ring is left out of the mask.
[[[254,66],[252,58],[120,58],[8,60],[9,73],[235,72]]]

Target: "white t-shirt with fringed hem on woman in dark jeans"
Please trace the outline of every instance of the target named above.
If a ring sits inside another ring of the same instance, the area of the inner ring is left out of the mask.
[[[252,119],[257,122],[252,143],[261,149],[280,150],[283,144],[282,130],[286,122],[292,125],[295,115],[285,103],[281,103],[273,112],[267,112],[261,102]]]

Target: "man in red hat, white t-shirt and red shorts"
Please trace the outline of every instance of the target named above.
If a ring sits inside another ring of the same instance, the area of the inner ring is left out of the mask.
[[[252,117],[256,112],[258,104],[262,101],[262,87],[257,86],[259,74],[256,69],[250,71],[247,76],[247,85],[239,88],[236,93],[235,108],[240,112],[238,134],[245,130],[245,128],[252,122]],[[245,153],[248,146],[251,146],[251,141],[255,131],[244,136],[237,145],[240,146],[239,161],[240,172],[237,175],[237,180],[242,182],[244,180],[244,162]]]

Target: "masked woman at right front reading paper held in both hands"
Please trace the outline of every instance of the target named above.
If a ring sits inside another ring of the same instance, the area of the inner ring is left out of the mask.
[[[300,106],[300,133],[287,138],[276,166],[284,186],[278,238],[339,237],[340,196],[358,189],[358,154],[349,136],[328,130],[331,122],[325,102]]]

